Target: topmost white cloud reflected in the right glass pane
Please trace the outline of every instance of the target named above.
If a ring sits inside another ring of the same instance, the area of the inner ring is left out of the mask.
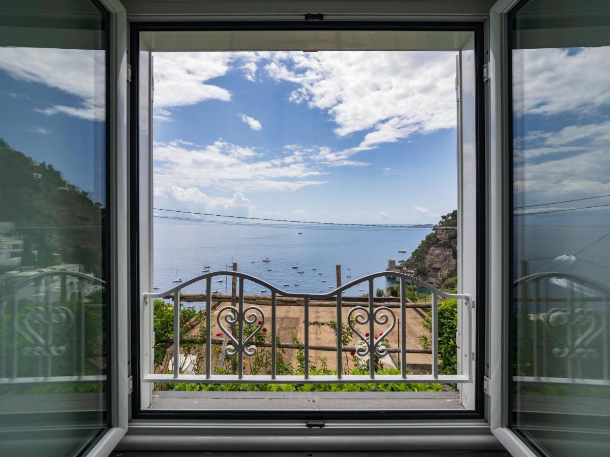
[[[513,52],[515,112],[587,113],[610,103],[610,46]]]

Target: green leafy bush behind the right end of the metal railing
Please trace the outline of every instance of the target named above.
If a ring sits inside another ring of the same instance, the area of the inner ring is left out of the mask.
[[[426,330],[432,331],[432,311],[424,317],[422,324]],[[456,344],[456,332],[458,331],[458,300],[443,300],[439,304],[439,339],[438,350],[441,364],[440,374],[453,375],[458,372],[458,345]],[[420,341],[424,349],[430,349],[431,342],[427,335],[421,335]]]

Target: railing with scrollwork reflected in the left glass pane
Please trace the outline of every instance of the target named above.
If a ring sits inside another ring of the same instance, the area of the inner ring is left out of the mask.
[[[106,356],[90,353],[91,346],[101,346],[101,317],[96,335],[87,328],[91,311],[105,306],[90,303],[87,292],[103,286],[103,280],[73,271],[5,277],[0,296],[0,384],[105,381],[102,367],[87,369],[88,358]]]

